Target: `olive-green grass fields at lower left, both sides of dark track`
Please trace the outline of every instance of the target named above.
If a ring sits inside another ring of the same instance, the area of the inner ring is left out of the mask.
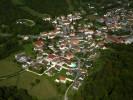
[[[13,56],[0,61],[0,75],[9,75],[20,70],[17,64],[13,62]],[[36,83],[36,79],[40,80]],[[35,74],[24,71],[23,73],[0,81],[0,86],[16,85],[19,88],[27,89],[29,94],[38,98],[38,100],[53,100],[59,99],[59,94],[56,87],[51,81],[43,76],[37,76]]]

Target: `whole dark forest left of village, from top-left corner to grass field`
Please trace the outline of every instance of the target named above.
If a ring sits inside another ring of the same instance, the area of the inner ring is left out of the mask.
[[[20,5],[14,5],[12,0],[8,0],[8,2],[7,0],[0,1],[0,19],[0,59],[21,49],[20,45],[22,44],[17,38],[18,35],[39,34],[54,29],[50,22],[29,14],[21,9]],[[32,24],[29,22],[25,24],[16,23],[18,20],[22,21],[21,19],[33,20],[34,25],[28,26],[27,24]]]

